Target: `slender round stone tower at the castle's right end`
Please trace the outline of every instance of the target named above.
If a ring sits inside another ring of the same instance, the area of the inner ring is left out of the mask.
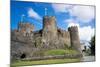
[[[69,27],[68,31],[70,33],[71,46],[81,53],[81,45],[80,45],[78,27],[77,26]]]

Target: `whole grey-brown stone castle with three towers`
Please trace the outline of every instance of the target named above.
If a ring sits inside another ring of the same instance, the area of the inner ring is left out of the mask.
[[[68,31],[58,29],[54,16],[43,17],[43,29],[34,31],[34,25],[20,22],[18,29],[11,31],[11,57],[22,54],[32,56],[32,51],[41,49],[67,49],[72,47],[81,53],[80,39],[77,26]]]

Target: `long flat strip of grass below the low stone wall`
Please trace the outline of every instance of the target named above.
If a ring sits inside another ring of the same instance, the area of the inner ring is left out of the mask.
[[[39,61],[16,61],[14,63],[11,63],[11,67],[72,63],[72,62],[79,62],[79,61],[80,61],[80,59],[50,59],[50,60],[39,60]]]

